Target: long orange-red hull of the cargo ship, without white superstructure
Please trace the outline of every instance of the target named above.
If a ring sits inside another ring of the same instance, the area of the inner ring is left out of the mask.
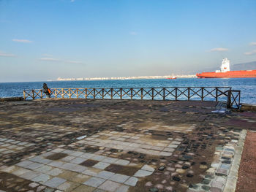
[[[253,78],[256,70],[230,71],[230,72],[203,72],[197,74],[198,78]]]

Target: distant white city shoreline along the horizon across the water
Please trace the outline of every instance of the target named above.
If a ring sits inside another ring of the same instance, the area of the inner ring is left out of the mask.
[[[61,78],[59,77],[57,81],[80,81],[80,80],[154,80],[154,79],[167,79],[173,75],[164,76],[139,76],[139,77],[80,77],[80,78]],[[195,78],[195,74],[181,74],[174,75],[177,78]]]

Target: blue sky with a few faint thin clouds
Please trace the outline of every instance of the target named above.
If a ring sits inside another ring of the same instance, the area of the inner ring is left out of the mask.
[[[256,1],[0,0],[0,82],[256,61]]]

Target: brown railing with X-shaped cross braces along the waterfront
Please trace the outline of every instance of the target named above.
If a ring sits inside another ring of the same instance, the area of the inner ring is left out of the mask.
[[[240,107],[240,91],[230,87],[171,88],[51,88],[51,97],[59,99],[151,99],[226,101],[227,107]],[[24,99],[45,99],[42,89],[23,91]]]

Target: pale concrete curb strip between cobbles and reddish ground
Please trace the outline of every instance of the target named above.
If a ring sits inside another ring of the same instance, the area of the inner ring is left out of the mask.
[[[236,154],[233,159],[233,164],[231,166],[230,173],[227,176],[227,182],[226,182],[223,192],[235,192],[236,191],[236,183],[238,180],[239,165],[240,165],[241,157],[243,154],[245,138],[246,138],[246,130],[244,129],[241,132],[241,136],[238,140],[238,145],[237,145],[237,147],[235,147]]]

